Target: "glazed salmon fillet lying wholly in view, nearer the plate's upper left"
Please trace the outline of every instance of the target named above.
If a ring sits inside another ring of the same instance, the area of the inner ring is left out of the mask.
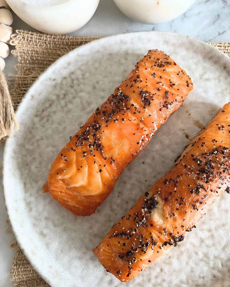
[[[76,215],[90,215],[124,168],[182,105],[189,76],[162,51],[150,50],[96,109],[54,160],[43,192]]]

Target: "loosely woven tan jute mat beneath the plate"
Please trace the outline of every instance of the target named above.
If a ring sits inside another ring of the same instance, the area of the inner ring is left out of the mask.
[[[14,109],[17,108],[29,87],[48,66],[74,48],[98,38],[100,37],[60,36],[24,30],[16,31],[16,34],[12,36],[11,45],[15,46],[12,54],[18,58],[18,64],[15,66],[17,73],[9,75]],[[230,43],[210,43],[210,45],[230,56]],[[17,249],[10,270],[12,281],[15,282],[14,286],[48,287],[49,285],[30,265],[16,241],[12,242],[11,247]]]

